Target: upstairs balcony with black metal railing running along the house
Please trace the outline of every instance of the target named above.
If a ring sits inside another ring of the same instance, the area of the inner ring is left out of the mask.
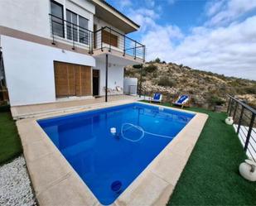
[[[138,63],[145,61],[145,46],[109,26],[97,31],[89,31],[62,18],[51,14],[49,16],[53,45],[56,45],[56,41],[67,41],[72,45],[73,50],[82,47],[88,50],[90,55],[111,52]]]

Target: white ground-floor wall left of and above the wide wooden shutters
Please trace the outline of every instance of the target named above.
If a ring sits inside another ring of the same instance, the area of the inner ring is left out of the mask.
[[[53,61],[94,66],[92,56],[1,36],[12,106],[56,101]]]

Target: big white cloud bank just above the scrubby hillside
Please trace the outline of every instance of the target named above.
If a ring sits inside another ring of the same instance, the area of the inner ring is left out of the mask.
[[[173,40],[182,37],[177,31],[162,28],[143,36],[148,60],[158,56],[196,69],[256,79],[256,16],[217,29],[196,27],[175,46]]]

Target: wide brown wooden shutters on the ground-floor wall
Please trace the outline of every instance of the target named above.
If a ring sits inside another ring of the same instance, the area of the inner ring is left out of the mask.
[[[54,62],[56,97],[91,95],[91,68]]]

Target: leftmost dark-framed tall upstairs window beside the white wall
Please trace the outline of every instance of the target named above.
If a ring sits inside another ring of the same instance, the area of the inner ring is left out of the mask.
[[[52,34],[64,38],[65,35],[62,5],[51,1],[51,15]]]

